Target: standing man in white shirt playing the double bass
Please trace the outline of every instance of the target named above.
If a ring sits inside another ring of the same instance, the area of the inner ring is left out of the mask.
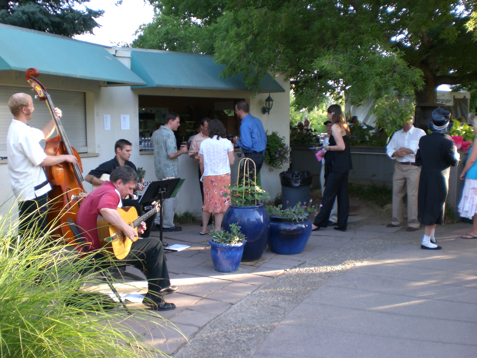
[[[50,137],[55,129],[52,118],[43,129],[28,126],[33,113],[33,100],[30,95],[16,93],[8,101],[13,115],[7,134],[7,158],[10,183],[18,200],[20,224],[19,233],[43,231],[46,228],[46,205],[48,192],[52,186],[48,182],[43,167],[50,167],[64,161],[76,164],[73,155],[50,156],[40,146],[42,139]],[[61,110],[54,108],[58,117]]]

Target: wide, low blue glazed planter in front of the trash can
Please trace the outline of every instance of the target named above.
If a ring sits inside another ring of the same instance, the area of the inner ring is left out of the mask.
[[[269,248],[273,253],[293,255],[301,253],[311,235],[311,221],[296,222],[288,218],[270,216]]]

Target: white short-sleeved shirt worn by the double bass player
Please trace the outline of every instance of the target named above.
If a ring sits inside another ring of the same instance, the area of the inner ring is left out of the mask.
[[[40,141],[40,129],[12,119],[7,134],[7,158],[10,183],[18,200],[31,200],[52,190],[40,166],[46,158]]]

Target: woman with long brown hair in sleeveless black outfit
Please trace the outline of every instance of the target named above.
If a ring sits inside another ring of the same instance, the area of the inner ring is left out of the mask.
[[[334,229],[346,231],[350,212],[348,172],[353,169],[349,144],[350,128],[339,105],[330,105],[327,112],[332,127],[330,144],[325,146],[325,191],[321,200],[321,211],[313,222],[313,231],[328,226],[336,197],[338,197],[338,221]]]

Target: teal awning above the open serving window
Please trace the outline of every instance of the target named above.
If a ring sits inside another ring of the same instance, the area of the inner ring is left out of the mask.
[[[131,71],[147,83],[146,87],[249,90],[243,81],[243,74],[220,78],[219,74],[224,68],[224,65],[214,62],[211,55],[174,51],[131,51]],[[267,74],[260,81],[259,92],[285,90]]]

